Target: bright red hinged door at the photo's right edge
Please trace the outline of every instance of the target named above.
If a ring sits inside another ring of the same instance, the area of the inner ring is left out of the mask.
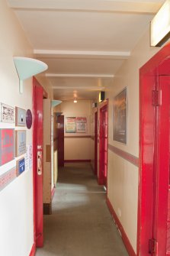
[[[156,90],[159,106],[155,115],[152,212],[152,238],[156,243],[156,253],[152,255],[165,256],[170,255],[170,76],[159,76]]]

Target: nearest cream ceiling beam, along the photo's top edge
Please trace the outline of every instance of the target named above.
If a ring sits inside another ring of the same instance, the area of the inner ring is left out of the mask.
[[[117,0],[8,0],[8,5],[14,9],[37,11],[101,11],[156,14],[162,6],[162,1],[117,1]]]

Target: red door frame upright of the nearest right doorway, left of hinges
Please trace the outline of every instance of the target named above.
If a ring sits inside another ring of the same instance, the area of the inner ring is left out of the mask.
[[[152,90],[155,86],[154,76],[140,77],[138,255],[142,256],[149,256],[149,239],[152,238],[152,176],[155,139],[155,109],[152,106]]]

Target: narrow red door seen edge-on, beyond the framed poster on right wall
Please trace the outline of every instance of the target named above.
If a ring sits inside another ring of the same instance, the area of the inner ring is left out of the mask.
[[[107,186],[107,105],[100,109],[100,137],[99,137],[99,176],[98,183]]]

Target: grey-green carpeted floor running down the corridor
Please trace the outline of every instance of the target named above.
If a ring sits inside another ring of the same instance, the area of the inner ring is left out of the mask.
[[[59,170],[53,214],[44,215],[44,247],[36,256],[127,256],[89,164]]]

